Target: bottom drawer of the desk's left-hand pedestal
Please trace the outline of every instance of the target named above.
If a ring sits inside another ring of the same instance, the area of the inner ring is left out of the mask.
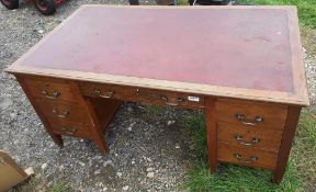
[[[58,122],[54,121],[53,118],[48,121],[54,133],[92,139],[91,131],[89,128],[89,125],[86,123]]]

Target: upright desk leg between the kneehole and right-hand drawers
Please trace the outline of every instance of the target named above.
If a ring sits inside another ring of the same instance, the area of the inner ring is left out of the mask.
[[[217,128],[215,122],[215,99],[205,98],[205,114],[206,114],[206,132],[207,132],[207,149],[208,149],[208,166],[211,172],[217,170]]]

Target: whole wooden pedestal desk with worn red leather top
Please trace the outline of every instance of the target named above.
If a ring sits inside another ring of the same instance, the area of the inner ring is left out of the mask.
[[[56,144],[122,101],[205,110],[208,162],[284,173],[308,105],[294,7],[83,5],[10,66]]]

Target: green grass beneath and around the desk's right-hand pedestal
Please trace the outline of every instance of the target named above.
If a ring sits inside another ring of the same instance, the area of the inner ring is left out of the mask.
[[[208,173],[206,132],[204,115],[192,113],[183,120],[184,126],[193,136],[196,154],[201,154],[195,160],[194,168],[188,173],[187,187],[190,191],[304,191],[300,172],[296,170],[296,159],[290,160],[283,181],[280,185],[270,182],[271,172],[261,169],[251,169],[241,166],[221,163],[216,174]]]

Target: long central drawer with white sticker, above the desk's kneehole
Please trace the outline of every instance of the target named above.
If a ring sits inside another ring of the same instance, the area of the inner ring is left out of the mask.
[[[196,94],[91,82],[80,82],[79,87],[82,94],[88,97],[147,102],[191,109],[204,108],[204,97]]]

